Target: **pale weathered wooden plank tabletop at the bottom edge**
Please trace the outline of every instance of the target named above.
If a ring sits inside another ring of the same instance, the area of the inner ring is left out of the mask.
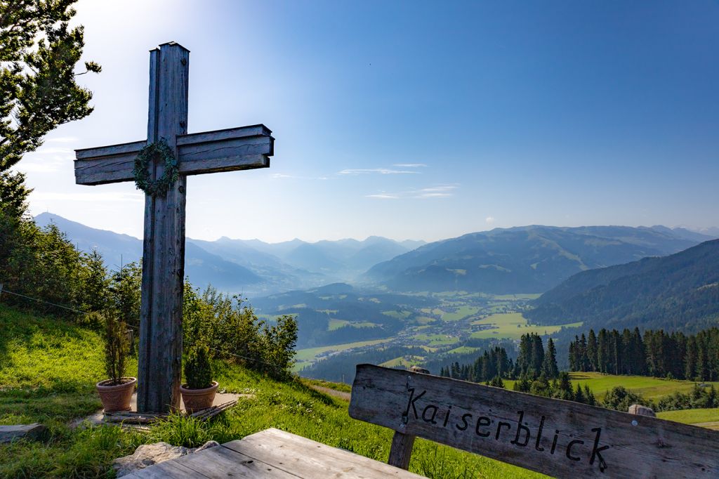
[[[409,479],[422,476],[279,429],[265,429],[124,477]]]

